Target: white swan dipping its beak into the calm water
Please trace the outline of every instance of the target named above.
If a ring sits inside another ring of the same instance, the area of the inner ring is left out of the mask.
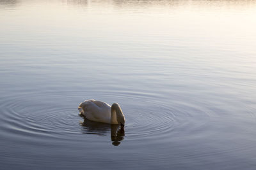
[[[110,106],[102,101],[88,100],[80,103],[78,110],[81,115],[95,122],[120,125],[124,128],[125,117],[117,103]]]

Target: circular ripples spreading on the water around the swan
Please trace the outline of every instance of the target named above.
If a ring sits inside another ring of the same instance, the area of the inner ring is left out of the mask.
[[[44,96],[28,94],[26,97],[13,96],[9,99],[1,99],[1,108],[4,112],[3,129],[8,135],[61,139],[69,138],[67,134],[69,136],[77,134],[113,135],[111,126],[88,122],[79,117],[77,106],[83,99],[79,102],[68,101],[77,98],[76,95],[78,96],[79,92],[65,97],[62,94],[45,94]],[[87,96],[93,96],[93,92],[87,93]],[[127,141],[150,139],[154,142],[159,138],[170,138],[173,129],[186,128],[193,123],[193,116],[188,110],[194,110],[194,113],[196,110],[193,106],[186,106],[177,101],[156,102],[156,99],[161,99],[156,94],[116,91],[98,92],[98,95],[94,96],[95,99],[102,98],[102,101],[116,99],[120,103],[127,120],[125,138],[122,140]],[[201,125],[198,124],[198,126]],[[196,128],[195,125],[193,127]],[[81,136],[76,136],[76,138],[81,141],[90,140],[90,138],[84,139]]]

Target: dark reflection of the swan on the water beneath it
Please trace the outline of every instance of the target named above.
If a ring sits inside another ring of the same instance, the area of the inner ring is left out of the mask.
[[[83,127],[83,133],[86,134],[97,134],[98,136],[107,136],[109,130],[111,131],[111,141],[113,145],[120,145],[120,141],[124,140],[125,132],[124,129],[120,129],[119,125],[104,124],[101,122],[93,122],[84,118],[83,122],[80,122]]]

